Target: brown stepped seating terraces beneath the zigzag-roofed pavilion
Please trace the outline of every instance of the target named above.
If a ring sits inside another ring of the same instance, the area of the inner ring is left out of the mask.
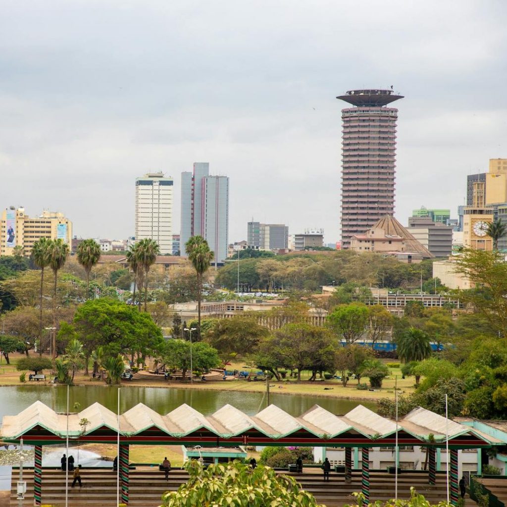
[[[27,494],[24,506],[33,505],[33,472],[26,470]],[[292,475],[302,487],[313,493],[319,503],[327,507],[342,507],[353,503],[353,491],[361,490],[361,474],[354,472],[352,482],[346,484],[343,474],[331,474],[331,480],[324,482],[322,472],[318,469],[306,469],[302,474]],[[16,479],[13,478],[11,489],[11,506],[17,506]],[[164,479],[163,472],[155,467],[139,468],[130,472],[130,501],[129,505],[135,507],[157,507],[161,503],[165,491],[174,491],[188,480],[184,470],[171,470],[169,480]],[[71,483],[71,474],[69,473]],[[83,488],[76,486],[69,488],[68,504],[72,507],[115,507],[116,506],[116,473],[104,469],[83,469]],[[507,484],[507,481],[505,481]],[[61,470],[43,470],[42,503],[63,506],[65,505],[65,473]],[[370,500],[388,500],[394,497],[394,476],[382,472],[370,474]],[[410,496],[410,487],[415,486],[418,493],[436,504],[446,497],[445,476],[437,475],[437,484],[429,486],[425,474],[403,473],[398,480],[399,498]],[[465,496],[466,507],[477,507],[476,503]]]

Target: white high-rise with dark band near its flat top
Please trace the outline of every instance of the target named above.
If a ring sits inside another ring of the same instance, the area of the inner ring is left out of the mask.
[[[172,253],[172,189],[172,178],[162,172],[135,180],[135,239],[155,240],[162,255]]]

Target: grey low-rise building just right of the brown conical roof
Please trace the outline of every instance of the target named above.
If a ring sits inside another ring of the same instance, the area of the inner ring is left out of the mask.
[[[429,216],[411,216],[407,231],[433,256],[449,257],[451,255],[452,226],[433,221]]]

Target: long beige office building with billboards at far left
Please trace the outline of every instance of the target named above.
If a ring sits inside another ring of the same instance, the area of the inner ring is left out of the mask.
[[[30,217],[24,208],[11,206],[2,212],[0,234],[0,255],[13,255],[14,247],[22,246],[24,255],[29,256],[33,243],[41,238],[61,238],[70,246],[72,222],[59,211],[44,210]]]

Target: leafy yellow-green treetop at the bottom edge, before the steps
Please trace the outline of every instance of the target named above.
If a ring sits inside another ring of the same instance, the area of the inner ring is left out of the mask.
[[[198,460],[189,460],[185,468],[190,476],[189,480],[177,491],[164,493],[162,507],[318,507],[313,495],[302,490],[296,479],[278,475],[272,468],[264,465],[252,470],[247,464],[235,460],[203,468]]]

